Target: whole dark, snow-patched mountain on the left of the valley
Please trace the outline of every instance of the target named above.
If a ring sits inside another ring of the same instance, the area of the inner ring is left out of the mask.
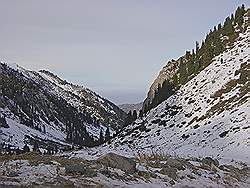
[[[48,71],[1,63],[0,81],[0,141],[12,146],[34,140],[42,148],[48,142],[92,145],[101,129],[114,133],[126,117],[110,101]]]

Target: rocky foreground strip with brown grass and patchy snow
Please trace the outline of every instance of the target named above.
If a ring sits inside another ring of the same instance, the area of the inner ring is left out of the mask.
[[[6,157],[8,160],[6,161]],[[0,158],[0,187],[249,187],[245,164],[221,165],[211,158],[167,155],[97,160],[28,153]],[[7,186],[8,185],[8,186]]]

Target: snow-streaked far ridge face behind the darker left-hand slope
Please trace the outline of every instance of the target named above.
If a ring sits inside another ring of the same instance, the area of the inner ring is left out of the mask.
[[[68,83],[49,71],[41,70],[39,74],[53,83],[50,92],[63,97],[80,111],[87,111],[100,123],[109,124],[114,130],[122,127],[126,115],[112,102],[88,88]]]

